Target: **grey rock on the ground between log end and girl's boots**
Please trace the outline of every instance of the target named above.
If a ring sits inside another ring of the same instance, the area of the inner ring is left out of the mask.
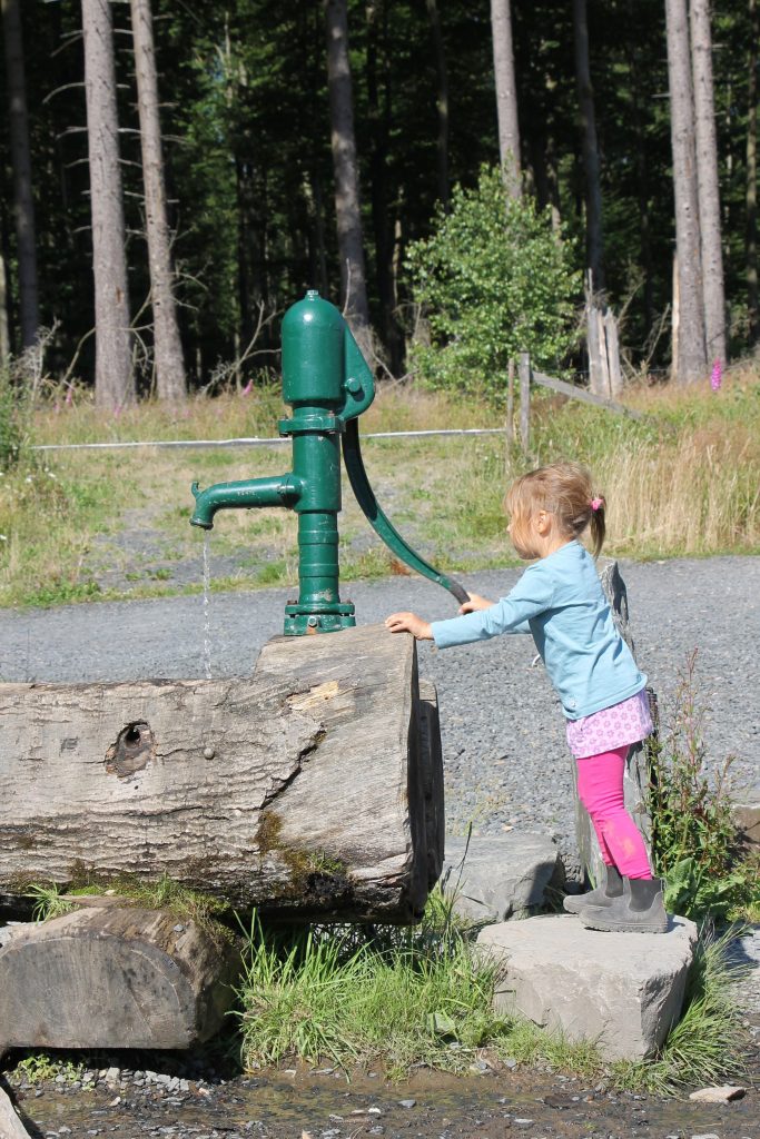
[[[446,839],[442,884],[469,921],[506,921],[545,901],[559,851],[548,835],[512,831]]]

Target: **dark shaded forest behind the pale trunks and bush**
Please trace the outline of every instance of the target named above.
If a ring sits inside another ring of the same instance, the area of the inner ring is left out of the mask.
[[[716,351],[708,338],[708,366],[716,357],[746,353],[758,338],[755,5],[716,3],[711,47],[708,41],[728,333],[725,351]],[[409,249],[434,230],[436,206],[450,207],[453,187],[474,187],[483,164],[499,163],[499,8],[510,22],[515,149],[524,195],[549,211],[574,268],[590,264],[595,288],[622,311],[631,370],[656,375],[667,369],[677,219],[671,106],[678,92],[669,97],[665,16],[679,6],[686,14],[685,0],[512,6],[153,0],[163,150],[157,161],[163,158],[189,386],[229,376],[220,362],[243,357],[235,370],[238,383],[265,377],[277,369],[276,318],[284,309],[309,287],[341,304],[346,286],[351,292],[330,149],[340,107],[330,103],[327,44],[336,18],[348,21],[351,161],[376,362],[394,376],[407,371],[407,349],[425,316],[407,269]],[[145,393],[155,386],[154,322],[132,25],[138,8],[150,8],[146,0],[3,0],[11,108],[8,14],[15,9],[21,17],[26,208],[32,215],[19,219],[25,207],[11,114],[0,120],[0,325],[6,329],[0,349],[6,357],[18,353],[35,326],[54,329],[46,346],[49,371],[93,383],[95,203],[82,35],[83,16],[93,7],[113,15],[131,350],[137,386]],[[710,30],[709,6],[693,0],[692,8],[706,9]],[[583,39],[586,64],[579,50]],[[698,48],[693,25],[692,56]],[[90,87],[93,79],[90,74]],[[15,83],[17,97],[18,76]],[[330,85],[335,100],[334,72]],[[345,100],[345,85],[338,95]],[[698,103],[696,109],[698,126]],[[508,158],[501,142],[501,157]],[[19,286],[24,227],[28,243],[30,226],[36,260],[33,316],[24,311],[28,297]],[[580,273],[575,301],[582,306],[579,281]],[[360,285],[356,272],[354,294]],[[554,362],[557,370],[569,363],[583,370],[578,353]]]

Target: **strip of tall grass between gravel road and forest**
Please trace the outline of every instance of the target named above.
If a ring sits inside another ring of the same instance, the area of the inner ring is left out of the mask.
[[[34,442],[269,436],[284,411],[272,386],[198,396],[181,409],[146,403],[109,417],[80,399],[54,396],[38,409],[30,427]],[[506,485],[558,458],[591,468],[608,501],[613,556],[758,552],[760,372],[729,377],[718,393],[709,386],[641,390],[630,400],[646,412],[644,421],[537,393],[526,456],[508,450],[504,436],[427,437],[368,442],[365,461],[399,530],[451,571],[516,562],[505,531]],[[386,385],[361,428],[500,426],[502,416],[502,409],[473,400]],[[0,604],[175,591],[172,564],[199,563],[198,534],[188,525],[190,482],[275,474],[288,464],[286,446],[36,457],[26,451],[14,468],[0,468]],[[341,541],[345,579],[392,572],[387,550],[348,489]],[[213,556],[237,565],[215,579],[216,588],[292,584],[293,518],[287,511],[227,511],[214,527]]]

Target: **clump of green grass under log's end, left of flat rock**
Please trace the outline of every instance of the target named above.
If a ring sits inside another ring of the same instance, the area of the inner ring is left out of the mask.
[[[283,942],[254,918],[240,986],[244,1064],[295,1055],[345,1068],[382,1060],[395,1076],[417,1063],[463,1071],[507,1029],[491,1011],[495,977],[441,895],[414,931],[316,927]]]

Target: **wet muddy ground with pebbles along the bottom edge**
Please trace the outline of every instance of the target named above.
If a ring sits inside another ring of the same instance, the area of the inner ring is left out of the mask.
[[[757,1056],[754,1066],[757,1071]],[[177,1087],[167,1071],[160,1068],[147,1082],[145,1071],[122,1070],[113,1082],[100,1080],[90,1091],[55,1083],[14,1091],[34,1139],[760,1137],[760,1096],[752,1087],[737,1103],[709,1106],[615,1093],[602,1084],[507,1067],[464,1077],[424,1071],[404,1083],[389,1083],[379,1074],[353,1075],[348,1082],[329,1068],[300,1067],[227,1081],[175,1076]]]

